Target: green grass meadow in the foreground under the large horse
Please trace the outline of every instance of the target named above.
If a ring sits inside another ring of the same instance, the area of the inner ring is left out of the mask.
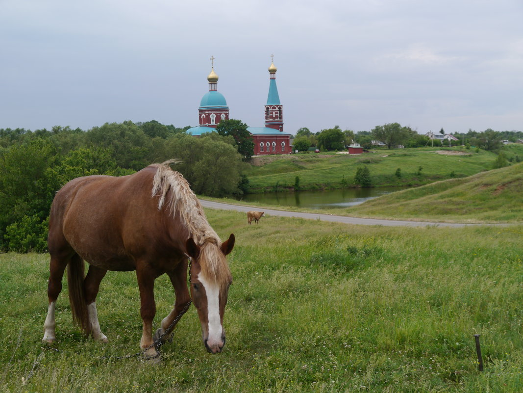
[[[204,350],[191,308],[160,364],[102,358],[139,350],[133,272],[109,272],[101,284],[109,344],[73,325],[64,282],[53,346],[61,352],[44,350],[48,255],[0,254],[0,390],[523,391],[523,226],[385,228],[270,216],[249,226],[244,214],[207,214],[222,238],[236,235],[222,354]],[[157,326],[174,301],[167,277],[155,294]]]

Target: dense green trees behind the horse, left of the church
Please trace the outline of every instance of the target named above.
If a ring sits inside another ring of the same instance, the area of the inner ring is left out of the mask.
[[[79,176],[128,175],[176,158],[181,162],[173,169],[195,193],[241,194],[246,157],[238,147],[245,141],[234,127],[199,138],[188,135],[188,128],[152,120],[106,123],[88,131],[0,129],[0,251],[46,250],[54,194]]]

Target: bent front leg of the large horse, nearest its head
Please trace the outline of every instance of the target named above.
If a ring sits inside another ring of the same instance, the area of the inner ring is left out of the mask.
[[[167,272],[167,275],[170,278],[170,282],[173,284],[176,301],[173,310],[162,320],[160,325],[161,328],[156,331],[155,337],[160,337],[164,334],[176,319],[174,325],[167,331],[168,338],[172,339],[174,327],[180,320],[181,316],[188,310],[188,304],[191,300],[189,290],[187,289],[187,259],[184,258],[183,261],[180,261],[174,270]],[[165,336],[162,341],[165,342]]]

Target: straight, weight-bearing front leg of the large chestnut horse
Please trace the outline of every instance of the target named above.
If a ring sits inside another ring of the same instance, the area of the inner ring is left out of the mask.
[[[138,267],[136,270],[138,287],[140,289],[140,315],[143,321],[142,338],[140,347],[142,350],[153,344],[153,319],[156,314],[154,302],[154,280],[156,276],[147,268]],[[154,346],[144,352],[144,357],[155,357],[158,355]]]

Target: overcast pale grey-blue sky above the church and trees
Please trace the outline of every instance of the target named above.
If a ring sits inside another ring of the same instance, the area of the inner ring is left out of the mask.
[[[523,0],[0,0],[0,128],[198,125],[523,131]]]

